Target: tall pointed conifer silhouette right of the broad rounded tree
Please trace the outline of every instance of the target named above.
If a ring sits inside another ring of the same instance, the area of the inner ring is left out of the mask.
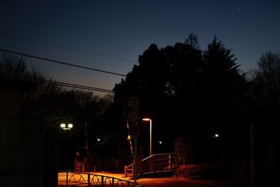
[[[202,121],[205,134],[218,133],[223,151],[235,151],[244,144],[248,113],[248,83],[237,58],[216,36],[203,54]],[[236,139],[239,137],[239,139]],[[224,152],[224,153],[225,153]],[[232,155],[227,155],[228,158]]]

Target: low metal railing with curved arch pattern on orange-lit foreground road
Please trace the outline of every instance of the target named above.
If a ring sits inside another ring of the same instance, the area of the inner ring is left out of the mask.
[[[66,172],[66,187],[73,184],[96,187],[132,187],[134,182],[116,179],[112,176],[90,174],[83,172]]]

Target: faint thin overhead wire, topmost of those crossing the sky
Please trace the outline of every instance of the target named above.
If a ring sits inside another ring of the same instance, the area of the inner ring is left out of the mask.
[[[26,40],[26,41],[32,41],[32,42],[35,42],[35,43],[41,43],[41,44],[48,45],[48,46],[64,48],[64,49],[67,49],[67,50],[74,50],[74,51],[78,51],[80,53],[87,53],[87,54],[96,55],[96,56],[99,56],[99,57],[106,57],[106,58],[110,58],[110,59],[113,59],[113,60],[120,60],[120,61],[124,61],[124,62],[130,62],[132,64],[137,64],[137,62],[134,62],[132,60],[127,60],[127,59],[124,59],[124,58],[112,57],[112,56],[109,56],[109,55],[102,55],[102,54],[93,53],[93,52],[90,52],[90,51],[87,51],[87,50],[79,50],[77,48],[69,48],[69,47],[66,47],[66,46],[60,46],[60,45],[57,45],[57,44],[48,43],[48,42],[44,42],[44,41],[38,41],[38,40],[34,40],[34,39],[27,39],[27,38],[24,38],[24,37],[21,37],[21,36],[15,36],[13,34],[1,33],[1,35],[9,36],[9,37],[12,37],[12,38],[15,38],[15,39],[22,39],[22,40]]]

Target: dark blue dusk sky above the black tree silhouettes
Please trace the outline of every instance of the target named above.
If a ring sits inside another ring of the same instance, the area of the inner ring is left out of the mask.
[[[137,62],[155,43],[183,42],[193,32],[200,47],[214,37],[231,48],[241,70],[255,69],[267,50],[280,52],[280,2],[267,1],[14,1],[0,2],[0,48],[120,74],[132,62],[79,53],[3,34]],[[25,58],[57,81],[112,89],[120,76]]]

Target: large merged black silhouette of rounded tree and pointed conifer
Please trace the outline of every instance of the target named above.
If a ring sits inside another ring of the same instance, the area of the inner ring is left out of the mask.
[[[155,139],[213,134],[219,123],[236,125],[244,109],[248,85],[235,60],[216,36],[204,52],[194,34],[174,46],[152,44],[116,84],[115,102],[138,95],[141,113],[155,119]]]

